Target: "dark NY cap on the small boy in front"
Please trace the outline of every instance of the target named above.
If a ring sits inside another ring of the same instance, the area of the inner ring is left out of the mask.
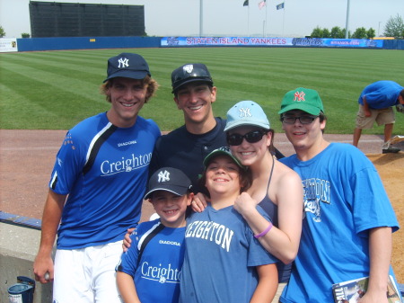
[[[165,191],[182,196],[190,192],[192,184],[186,174],[177,168],[162,167],[155,171],[149,179],[145,200],[150,198],[152,192]]]

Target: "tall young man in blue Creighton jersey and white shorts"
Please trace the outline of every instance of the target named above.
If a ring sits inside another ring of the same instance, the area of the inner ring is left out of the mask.
[[[138,115],[157,89],[145,59],[132,53],[110,58],[107,75],[101,91],[110,110],[67,132],[49,182],[34,272],[37,281],[54,280],[58,303],[121,301],[115,265],[127,227],[140,218],[160,136],[153,120]]]

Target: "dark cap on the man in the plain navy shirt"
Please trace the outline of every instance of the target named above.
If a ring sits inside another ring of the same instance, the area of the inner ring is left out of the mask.
[[[182,85],[190,82],[203,81],[213,85],[212,77],[205,64],[189,63],[174,69],[171,73],[172,94],[174,94]]]

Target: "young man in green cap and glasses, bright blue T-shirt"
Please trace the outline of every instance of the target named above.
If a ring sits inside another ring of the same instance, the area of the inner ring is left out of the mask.
[[[376,169],[356,147],[324,139],[316,91],[286,93],[279,114],[296,152],[280,161],[301,176],[304,193],[299,252],[280,301],[333,302],[332,284],[370,276],[361,302],[387,303],[391,232],[399,223]]]

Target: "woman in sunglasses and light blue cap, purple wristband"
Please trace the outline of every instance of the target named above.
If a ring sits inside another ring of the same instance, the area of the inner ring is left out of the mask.
[[[234,209],[259,235],[261,245],[281,261],[277,264],[279,287],[273,300],[277,302],[289,280],[291,263],[299,247],[303,214],[302,182],[298,174],[273,156],[274,130],[258,103],[236,103],[227,111],[224,131],[233,156],[249,168],[253,180],[246,193],[235,201]],[[203,200],[201,194],[194,197],[197,202],[192,203],[193,209],[203,209],[206,203]],[[272,222],[259,214],[257,205],[267,212]]]

